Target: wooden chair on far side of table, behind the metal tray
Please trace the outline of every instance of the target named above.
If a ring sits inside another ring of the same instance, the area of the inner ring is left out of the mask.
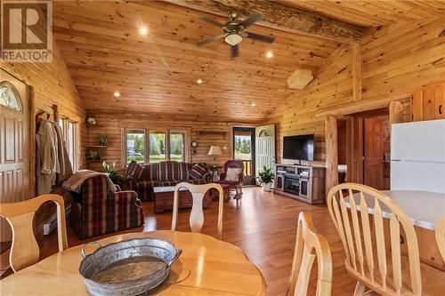
[[[176,230],[176,223],[178,219],[178,206],[179,206],[179,190],[180,188],[187,188],[191,192],[193,198],[193,204],[191,206],[190,212],[190,228],[192,232],[201,232],[201,228],[204,224],[204,212],[202,207],[202,202],[206,192],[215,188],[219,193],[219,206],[218,206],[218,237],[223,239],[223,202],[224,202],[224,192],[223,188],[219,184],[208,183],[202,185],[190,184],[187,182],[182,182],[176,185],[174,188],[174,203],[173,203],[173,220],[172,220],[172,230]]]

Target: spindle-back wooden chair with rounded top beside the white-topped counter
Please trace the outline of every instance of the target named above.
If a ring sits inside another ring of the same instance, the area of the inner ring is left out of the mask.
[[[358,280],[354,295],[364,295],[367,287],[370,293],[388,296],[445,291],[445,274],[420,262],[413,223],[389,196],[365,185],[343,183],[329,191],[328,209],[344,245],[345,267]],[[407,246],[407,256],[401,254],[401,244]]]

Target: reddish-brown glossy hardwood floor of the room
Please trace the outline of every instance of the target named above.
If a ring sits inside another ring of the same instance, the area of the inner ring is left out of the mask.
[[[154,214],[153,203],[144,203],[146,225],[144,231],[169,229],[172,212]],[[263,193],[261,188],[244,188],[244,196],[238,202],[231,200],[224,204],[223,240],[238,245],[248,258],[262,271],[268,295],[285,295],[294,254],[296,220],[299,212],[309,212],[317,230],[327,237],[333,255],[334,283],[332,295],[352,295],[356,282],[344,268],[343,245],[337,236],[326,205],[309,205],[293,199]],[[181,210],[178,216],[178,230],[190,231],[190,210]],[[216,236],[217,203],[204,211],[203,233]],[[69,246],[85,244],[105,236],[78,240],[68,227]],[[142,231],[142,228],[123,232]],[[116,234],[116,233],[115,233]],[[115,235],[111,234],[111,235]],[[41,244],[41,257],[57,252],[57,235],[54,231]],[[79,255],[80,256],[80,255]],[[312,279],[316,276],[314,264]],[[311,281],[308,295],[315,294],[315,281]]]

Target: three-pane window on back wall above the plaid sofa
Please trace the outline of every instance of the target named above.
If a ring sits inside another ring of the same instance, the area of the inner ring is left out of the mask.
[[[168,129],[162,131],[126,129],[125,137],[126,164],[133,160],[138,163],[159,163],[166,160],[187,161],[186,132]]]

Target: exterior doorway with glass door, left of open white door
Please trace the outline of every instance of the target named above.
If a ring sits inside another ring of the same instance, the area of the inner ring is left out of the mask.
[[[233,128],[233,159],[243,162],[243,184],[255,185],[255,128]]]

